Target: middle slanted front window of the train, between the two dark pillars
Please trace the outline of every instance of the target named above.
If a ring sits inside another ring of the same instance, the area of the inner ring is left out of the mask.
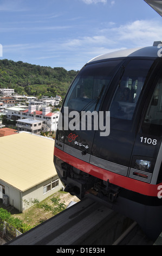
[[[131,60],[116,89],[110,115],[113,118],[132,120],[142,87],[152,60]]]

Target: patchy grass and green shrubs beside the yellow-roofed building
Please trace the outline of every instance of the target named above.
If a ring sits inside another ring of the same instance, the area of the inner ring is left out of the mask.
[[[53,196],[39,202],[38,199],[24,200],[24,204],[30,206],[23,214],[11,215],[11,212],[0,208],[0,230],[3,230],[3,221],[6,221],[12,227],[16,228],[21,233],[24,233],[48,218],[53,217],[59,212],[66,209],[66,204],[62,202],[59,191]]]

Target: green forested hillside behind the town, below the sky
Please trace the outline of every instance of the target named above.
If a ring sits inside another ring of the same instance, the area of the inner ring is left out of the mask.
[[[0,60],[0,88],[11,88],[20,95],[62,99],[79,71],[51,68],[22,61]]]

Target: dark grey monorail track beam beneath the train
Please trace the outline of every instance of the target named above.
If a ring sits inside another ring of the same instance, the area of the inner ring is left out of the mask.
[[[5,245],[117,245],[133,222],[90,198]],[[127,241],[126,241],[127,243]]]

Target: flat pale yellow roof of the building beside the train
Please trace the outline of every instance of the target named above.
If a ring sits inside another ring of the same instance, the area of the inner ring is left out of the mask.
[[[31,133],[0,137],[0,180],[20,191],[55,176],[54,140]]]

